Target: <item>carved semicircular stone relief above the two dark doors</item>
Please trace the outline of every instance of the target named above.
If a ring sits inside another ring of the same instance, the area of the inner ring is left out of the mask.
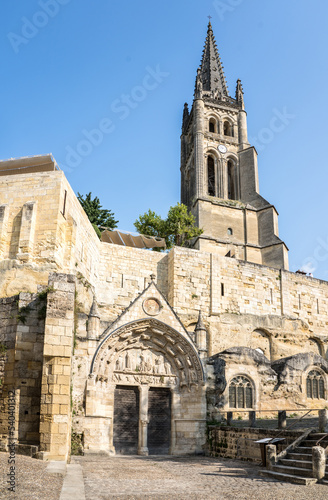
[[[92,373],[96,383],[188,389],[203,383],[201,362],[193,346],[155,319],[138,321],[112,333],[100,345]]]

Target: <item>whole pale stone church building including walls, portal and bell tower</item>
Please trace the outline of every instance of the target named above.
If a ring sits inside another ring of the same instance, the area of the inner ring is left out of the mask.
[[[72,432],[85,453],[201,453],[220,412],[327,406],[328,284],[288,271],[210,24],[181,179],[204,232],[161,253],[100,241],[51,155],[0,162],[2,448],[9,402],[20,445],[62,460]]]

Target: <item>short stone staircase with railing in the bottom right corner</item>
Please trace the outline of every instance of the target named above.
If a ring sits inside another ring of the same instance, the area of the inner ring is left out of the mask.
[[[311,433],[292,451],[287,453],[270,469],[261,471],[262,476],[271,477],[279,481],[286,481],[295,484],[310,485],[317,482],[312,473],[312,447],[325,434]],[[328,436],[320,442],[320,446],[328,446]],[[326,475],[321,481],[328,485],[328,464],[326,465]]]

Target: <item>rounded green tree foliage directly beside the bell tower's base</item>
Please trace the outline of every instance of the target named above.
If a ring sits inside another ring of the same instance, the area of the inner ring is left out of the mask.
[[[134,227],[140,234],[165,238],[167,248],[184,246],[188,240],[203,233],[202,229],[195,227],[195,217],[182,203],[170,207],[166,219],[148,210],[139,216]]]

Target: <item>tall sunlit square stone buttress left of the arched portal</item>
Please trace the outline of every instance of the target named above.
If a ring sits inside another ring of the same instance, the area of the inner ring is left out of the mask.
[[[40,457],[47,460],[67,460],[70,452],[74,292],[73,275],[49,275],[40,408]]]

